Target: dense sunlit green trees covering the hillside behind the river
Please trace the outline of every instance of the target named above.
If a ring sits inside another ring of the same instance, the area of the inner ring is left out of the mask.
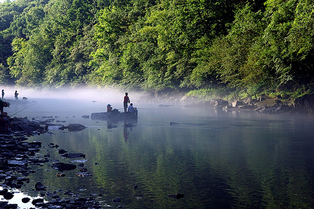
[[[313,0],[0,3],[0,82],[312,91]]]

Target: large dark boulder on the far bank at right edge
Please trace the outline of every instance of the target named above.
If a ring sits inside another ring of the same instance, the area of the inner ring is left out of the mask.
[[[298,97],[294,101],[295,109],[306,113],[308,115],[314,115],[314,94],[305,94]]]

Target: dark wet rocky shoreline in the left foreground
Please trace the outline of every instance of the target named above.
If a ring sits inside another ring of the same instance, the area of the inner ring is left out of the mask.
[[[45,120],[44,120],[45,121]],[[50,120],[51,121],[51,120]],[[49,121],[47,121],[48,125]],[[46,123],[44,124],[47,127]],[[74,126],[73,126],[74,125]],[[73,130],[81,130],[80,124],[70,124],[67,128]],[[72,170],[77,166],[68,163],[55,163],[55,160],[50,158],[49,154],[41,155],[37,152],[40,151],[41,142],[25,142],[27,137],[36,136],[40,134],[50,135],[47,128],[39,124],[37,121],[29,121],[27,117],[17,118],[14,117],[10,121],[10,130],[0,131],[0,186],[3,190],[0,191],[0,196],[4,199],[10,200],[14,197],[13,189],[21,189],[23,185],[30,184],[30,179],[27,176],[35,173],[29,166],[37,165],[43,166],[44,163],[52,163],[51,167],[58,171]],[[86,128],[86,127],[85,127]],[[71,130],[71,131],[73,131]],[[61,149],[58,145],[50,144],[49,148],[57,148],[58,153],[65,158],[85,158],[83,153],[68,153],[66,150]],[[75,162],[78,162],[76,160]],[[78,166],[84,166],[83,163]],[[80,169],[80,173],[76,176],[84,177],[90,175],[84,167]],[[64,176],[62,173],[57,173],[57,176]],[[34,207],[41,208],[101,208],[102,206],[93,197],[80,197],[72,193],[72,191],[64,191],[64,195],[71,195],[71,198],[60,198],[59,195],[53,192],[46,192],[46,186],[41,182],[36,182],[34,190],[41,191],[41,196],[51,196],[53,200],[44,201],[44,198],[34,198],[32,204]],[[46,194],[45,194],[46,192]],[[101,195],[101,194],[99,194]],[[25,197],[21,200],[23,203],[30,201],[30,198]],[[17,204],[8,204],[7,201],[0,201],[0,209],[2,208],[18,208]]]

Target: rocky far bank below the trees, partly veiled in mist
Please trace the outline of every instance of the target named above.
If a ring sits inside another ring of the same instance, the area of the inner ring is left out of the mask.
[[[305,94],[293,102],[290,98],[276,96],[273,98],[262,96],[259,98],[247,97],[241,100],[226,101],[223,99],[199,100],[197,97],[174,96],[154,97],[145,95],[139,97],[140,102],[160,103],[160,107],[209,107],[223,111],[256,111],[260,113],[301,114],[314,115],[314,94]]]

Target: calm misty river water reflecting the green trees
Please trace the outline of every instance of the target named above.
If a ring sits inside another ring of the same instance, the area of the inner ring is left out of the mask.
[[[17,116],[58,116],[56,120],[67,121],[59,124],[80,123],[88,128],[51,131],[55,135],[42,134],[29,141],[41,141],[40,153],[64,163],[75,159],[62,159],[58,149],[47,144],[84,153],[85,168],[92,176],[75,177],[80,167],[64,171],[66,177],[57,177],[58,171],[49,163],[34,167],[37,172],[29,176],[34,182],[21,189],[29,196],[37,195],[32,189],[41,181],[47,191],[71,190],[82,196],[101,193],[95,197],[104,206],[314,208],[313,118],[134,104],[153,110],[140,109],[138,120],[108,122],[81,116],[106,111],[110,101],[36,101]],[[9,114],[24,107],[11,105]],[[171,126],[170,122],[179,124]],[[125,123],[135,126],[126,128]],[[108,129],[109,124],[119,127]],[[66,196],[62,193],[57,192]],[[176,193],[185,197],[168,197]],[[121,203],[110,201],[117,197]]]

